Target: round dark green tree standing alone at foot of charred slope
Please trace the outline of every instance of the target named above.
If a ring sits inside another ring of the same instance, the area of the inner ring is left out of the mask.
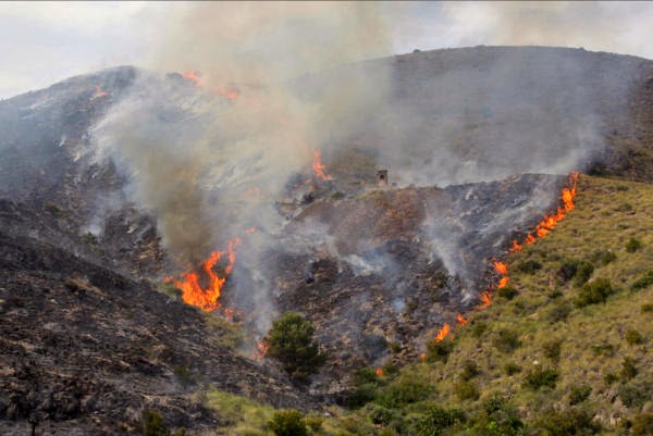
[[[309,321],[297,313],[285,313],[272,323],[268,333],[268,356],[279,360],[293,377],[306,379],[326,359],[312,336],[313,326]]]

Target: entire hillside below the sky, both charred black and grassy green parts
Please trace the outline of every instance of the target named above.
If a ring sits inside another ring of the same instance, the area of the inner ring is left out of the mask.
[[[283,92],[123,66],[0,101],[0,433],[138,434],[160,418],[260,435],[294,408],[329,416],[316,434],[411,435],[435,403],[472,432],[495,390],[533,429],[584,384],[572,410],[620,432],[651,408],[652,80],[640,58],[476,47]],[[310,110],[285,120],[284,103]],[[590,174],[577,209],[508,254],[571,170]],[[509,286],[478,311],[497,258]],[[218,283],[218,304],[186,304],[183,277],[200,297]],[[328,356],[303,382],[260,356],[286,311]],[[555,388],[523,387],[540,366]]]

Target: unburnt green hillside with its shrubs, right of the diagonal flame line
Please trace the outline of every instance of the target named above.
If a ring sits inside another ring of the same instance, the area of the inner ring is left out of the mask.
[[[652,434],[653,187],[581,176],[578,189],[558,227],[505,258],[512,285],[491,307],[426,361],[358,371],[353,409],[309,415],[311,434]],[[604,279],[605,301],[589,302]]]

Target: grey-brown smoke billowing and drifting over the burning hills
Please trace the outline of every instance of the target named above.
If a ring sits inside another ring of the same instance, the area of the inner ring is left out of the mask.
[[[264,304],[274,284],[254,272],[259,252],[279,240],[291,249],[297,239],[284,234],[274,201],[291,176],[310,167],[315,150],[328,167],[354,145],[371,150],[398,186],[565,174],[602,149],[604,114],[618,113],[631,68],[627,60],[535,48],[355,63],[389,51],[383,14],[368,3],[200,4],[167,28],[155,66],[197,72],[201,86],[141,74],[98,123],[95,144],[130,174],[131,196],[157,216],[164,246],[182,264],[257,227],[257,244],[242,259],[259,278],[252,285],[234,274]],[[544,186],[529,191],[482,228],[507,233],[556,196]],[[471,276],[478,265],[468,267],[461,254],[470,224],[445,204],[424,210],[421,244],[451,274]],[[329,252],[334,238],[329,231],[315,236],[311,250]],[[373,256],[347,252],[344,261],[358,273],[392,274],[384,265],[394,260],[364,239]]]

